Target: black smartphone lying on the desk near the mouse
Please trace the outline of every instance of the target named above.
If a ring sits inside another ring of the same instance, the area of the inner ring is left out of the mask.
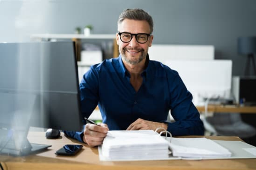
[[[76,155],[78,151],[83,148],[83,145],[64,145],[58,151],[55,152],[56,155]]]

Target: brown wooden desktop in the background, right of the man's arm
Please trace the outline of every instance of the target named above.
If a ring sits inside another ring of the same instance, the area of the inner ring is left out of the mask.
[[[205,111],[205,106],[196,106],[199,112]],[[256,114],[256,106],[229,106],[229,105],[208,105],[210,112],[226,112],[226,113],[252,113]]]

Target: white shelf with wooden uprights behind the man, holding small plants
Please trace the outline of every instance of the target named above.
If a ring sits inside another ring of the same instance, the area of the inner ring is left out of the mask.
[[[84,34],[32,34],[30,36],[31,40],[34,41],[50,41],[58,39],[71,39],[76,42],[76,51],[77,51],[77,60],[80,60],[80,51],[81,51],[81,40],[113,40],[113,58],[119,55],[118,45],[116,43],[115,34],[90,34],[85,36]]]

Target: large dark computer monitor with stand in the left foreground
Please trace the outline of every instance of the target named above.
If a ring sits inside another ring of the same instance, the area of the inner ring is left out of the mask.
[[[82,130],[73,42],[0,43],[0,153],[35,151],[30,126]]]

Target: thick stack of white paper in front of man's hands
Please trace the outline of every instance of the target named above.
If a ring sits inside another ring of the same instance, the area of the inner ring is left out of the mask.
[[[169,158],[169,142],[153,130],[109,131],[102,143],[102,155],[115,160]]]

